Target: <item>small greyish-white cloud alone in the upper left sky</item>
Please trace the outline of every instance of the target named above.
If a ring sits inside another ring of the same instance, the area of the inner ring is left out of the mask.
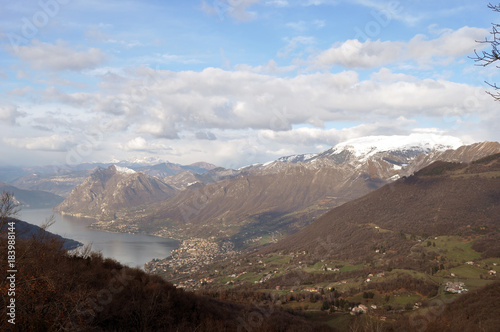
[[[77,51],[63,41],[55,44],[33,40],[31,45],[19,46],[16,55],[35,69],[82,71],[95,68],[105,61],[105,54],[96,48]]]

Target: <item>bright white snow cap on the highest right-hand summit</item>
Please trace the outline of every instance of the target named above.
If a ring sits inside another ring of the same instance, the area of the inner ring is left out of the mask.
[[[463,142],[456,137],[430,133],[414,133],[409,136],[367,136],[348,140],[334,146],[335,152],[351,151],[356,157],[370,157],[379,152],[457,149]]]

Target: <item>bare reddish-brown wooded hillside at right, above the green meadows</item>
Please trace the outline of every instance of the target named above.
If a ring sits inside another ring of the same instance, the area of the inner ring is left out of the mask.
[[[363,261],[383,244],[385,259],[391,259],[410,254],[410,237],[487,235],[473,248],[485,257],[496,256],[499,203],[500,154],[469,164],[436,161],[331,210],[264,251],[307,251],[317,257]]]

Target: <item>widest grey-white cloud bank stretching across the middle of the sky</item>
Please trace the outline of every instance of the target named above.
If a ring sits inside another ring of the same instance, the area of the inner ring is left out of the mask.
[[[353,71],[279,77],[251,70],[171,72],[141,67],[128,70],[127,76],[105,76],[100,86],[102,90],[95,93],[55,90],[45,97],[48,102],[52,96],[91,110],[90,114],[108,123],[110,133],[177,140],[196,133],[223,139],[216,130],[282,132],[302,124],[321,128],[332,121],[463,117],[494,108],[491,98],[478,94],[479,88],[422,80],[387,68],[360,80]]]

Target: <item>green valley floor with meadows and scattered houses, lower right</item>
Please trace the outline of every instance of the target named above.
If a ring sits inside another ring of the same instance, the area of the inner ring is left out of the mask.
[[[198,271],[188,269],[185,277],[186,272],[168,266],[161,275],[178,287],[221,298],[253,294],[248,301],[265,299],[266,304],[326,320],[338,328],[339,320],[344,321],[339,317],[350,316],[360,304],[368,308],[362,313],[369,317],[396,321],[401,315],[421,313],[420,309],[429,308],[432,301],[451,302],[458,293],[498,282],[500,259],[481,258],[470,248],[471,242],[444,236],[432,238],[435,247],[426,243],[414,245],[414,260],[401,265],[387,260],[385,252],[376,253],[379,249],[374,250],[371,262],[359,264],[311,259],[308,253],[297,252],[240,257],[202,266]],[[434,259],[424,259],[422,254]],[[429,263],[432,266],[427,266]],[[462,286],[455,290],[455,284]]]

